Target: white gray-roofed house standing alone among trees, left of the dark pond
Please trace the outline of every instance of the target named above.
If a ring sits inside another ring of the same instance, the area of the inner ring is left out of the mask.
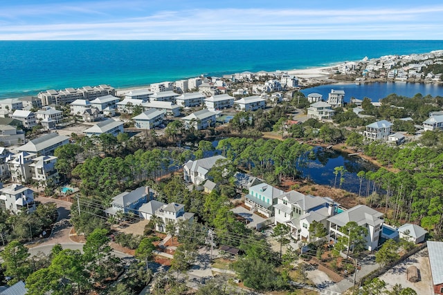
[[[205,180],[210,179],[208,173],[213,168],[217,160],[226,160],[222,155],[215,155],[209,158],[203,158],[195,161],[189,160],[183,164],[183,179],[186,182],[192,182],[199,186]]]

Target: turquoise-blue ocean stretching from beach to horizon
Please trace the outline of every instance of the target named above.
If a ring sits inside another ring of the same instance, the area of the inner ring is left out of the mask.
[[[47,89],[147,86],[199,75],[329,66],[427,53],[443,41],[0,41],[0,99]]]

